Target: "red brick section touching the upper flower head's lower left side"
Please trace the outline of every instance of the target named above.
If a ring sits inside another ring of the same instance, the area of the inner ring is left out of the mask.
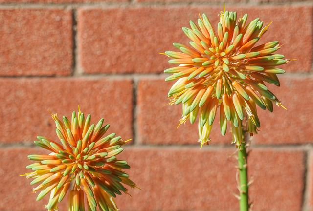
[[[198,120],[193,125],[189,121],[178,129],[182,105],[168,104],[167,93],[173,83],[164,80],[143,80],[138,85],[138,131],[139,142],[145,144],[199,144]],[[230,131],[228,129],[228,131]],[[222,136],[219,117],[212,129],[212,144],[231,142],[227,132]]]

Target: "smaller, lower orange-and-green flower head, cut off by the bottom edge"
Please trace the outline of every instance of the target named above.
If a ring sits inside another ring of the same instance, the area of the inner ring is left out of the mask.
[[[82,112],[74,111],[71,122],[67,117],[61,122],[56,114],[52,118],[61,143],[38,136],[35,144],[51,153],[29,155],[35,163],[26,167],[32,170],[26,173],[27,178],[34,179],[31,185],[38,185],[33,191],[40,191],[37,201],[50,193],[46,209],[57,211],[58,203],[69,192],[68,211],[117,211],[113,198],[127,193],[123,184],[135,187],[122,170],[130,166],[116,158],[127,141],[115,133],[102,138],[110,125],[103,126],[103,119],[90,125],[90,114],[85,119]]]

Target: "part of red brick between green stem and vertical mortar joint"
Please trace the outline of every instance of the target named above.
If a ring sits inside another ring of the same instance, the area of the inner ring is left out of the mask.
[[[253,149],[248,157],[254,211],[301,211],[304,153]],[[291,200],[292,199],[292,200]]]

